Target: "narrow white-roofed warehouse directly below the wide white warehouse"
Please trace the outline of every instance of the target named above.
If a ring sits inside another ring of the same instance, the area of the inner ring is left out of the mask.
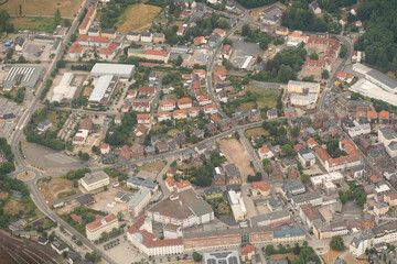
[[[108,105],[118,84],[118,78],[114,75],[100,76],[94,87],[93,94],[88,98],[89,103]]]

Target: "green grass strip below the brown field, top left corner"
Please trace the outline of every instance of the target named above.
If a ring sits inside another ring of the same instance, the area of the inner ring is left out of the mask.
[[[53,18],[11,18],[17,30],[31,30],[53,32],[55,30]]]

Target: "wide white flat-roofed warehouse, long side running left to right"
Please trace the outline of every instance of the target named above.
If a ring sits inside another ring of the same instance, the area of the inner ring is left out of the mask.
[[[135,65],[128,64],[106,64],[97,63],[94,65],[90,75],[100,77],[103,75],[114,75],[115,77],[128,79],[132,77]]]

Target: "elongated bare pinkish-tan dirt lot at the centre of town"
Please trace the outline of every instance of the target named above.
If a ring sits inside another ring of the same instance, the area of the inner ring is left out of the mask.
[[[254,175],[250,166],[250,157],[243,144],[236,139],[219,140],[219,148],[229,163],[236,164],[242,174],[243,180],[247,179],[247,175]]]

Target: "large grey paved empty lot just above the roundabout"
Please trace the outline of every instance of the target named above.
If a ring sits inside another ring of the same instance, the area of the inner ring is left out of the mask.
[[[77,157],[34,143],[22,144],[29,164],[46,170],[69,170],[85,167]]]

